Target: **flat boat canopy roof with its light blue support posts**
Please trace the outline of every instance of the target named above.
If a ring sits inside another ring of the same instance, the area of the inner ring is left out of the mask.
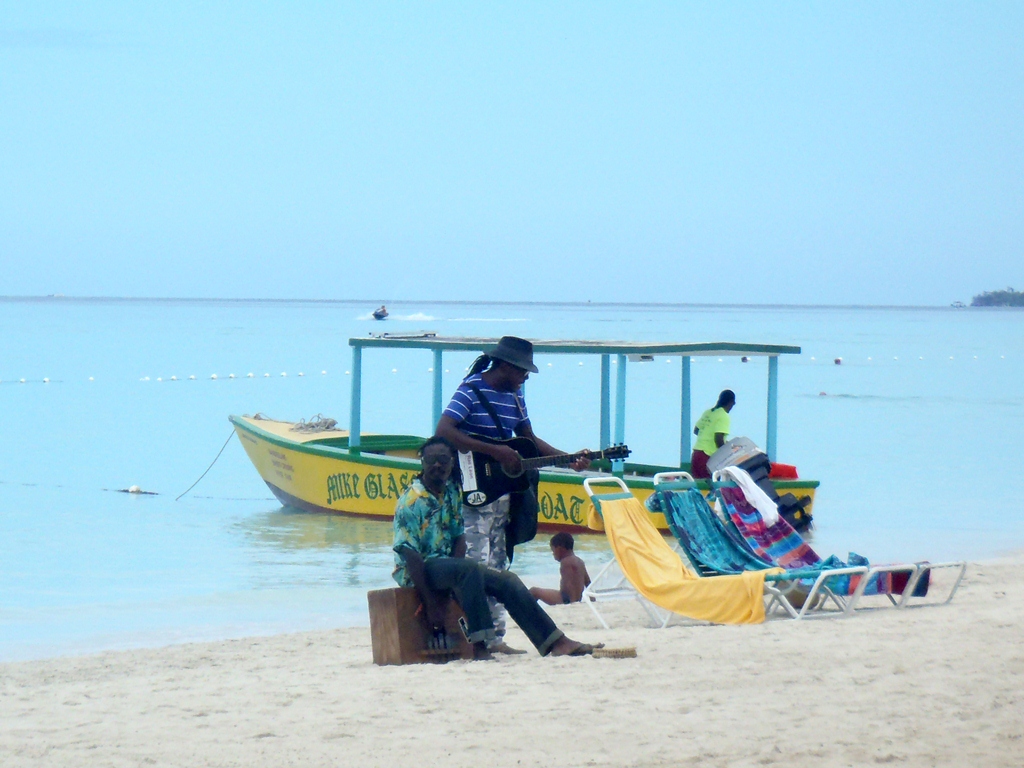
[[[444,392],[441,389],[442,358],[445,350],[483,352],[498,344],[498,339],[469,336],[437,336],[420,334],[373,334],[348,340],[352,347],[352,404],[349,423],[349,450],[359,452],[359,429],[362,390],[362,350],[367,347],[398,349],[431,349],[433,367],[433,423],[441,418]],[[629,359],[651,359],[654,355],[682,358],[682,389],[680,397],[679,464],[690,459],[690,436],[693,429],[690,417],[690,357],[695,356],[748,356],[768,358],[768,428],[765,450],[775,461],[778,434],[778,358],[782,354],[800,354],[800,347],[784,344],[742,344],[730,341],[714,342],[626,342],[626,341],[572,341],[565,339],[530,339],[538,354],[596,354],[601,357],[601,447],[612,443],[611,424],[611,355],[617,357],[615,371],[615,422],[614,442],[626,442],[626,362]],[[616,469],[622,471],[622,463]]]

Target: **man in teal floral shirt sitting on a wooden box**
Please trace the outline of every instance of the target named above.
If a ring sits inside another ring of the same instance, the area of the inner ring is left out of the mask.
[[[434,645],[444,647],[444,614],[450,597],[466,612],[467,639],[475,658],[489,658],[495,637],[487,597],[504,603],[513,621],[542,656],[582,656],[593,645],[570,640],[530,596],[519,577],[467,560],[463,531],[462,490],[452,479],[456,450],[443,437],[431,437],[420,449],[423,471],[401,495],[394,510],[394,580],[415,587]]]

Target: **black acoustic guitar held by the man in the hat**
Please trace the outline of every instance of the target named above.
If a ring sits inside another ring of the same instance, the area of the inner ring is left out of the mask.
[[[482,437],[476,439],[496,445],[508,445],[522,457],[522,469],[518,474],[510,475],[502,465],[486,454],[475,451],[459,454],[459,468],[462,470],[463,500],[470,507],[482,507],[484,504],[500,499],[506,494],[525,490],[529,487],[526,471],[541,467],[567,467],[584,457],[591,461],[607,459],[615,461],[630,455],[626,445],[612,445],[604,451],[580,451],[575,454],[556,454],[541,456],[541,452],[528,437],[512,437],[508,440],[488,440]]]

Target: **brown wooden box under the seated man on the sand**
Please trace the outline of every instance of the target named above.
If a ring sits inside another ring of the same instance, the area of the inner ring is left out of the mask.
[[[473,646],[466,641],[459,628],[459,618],[465,614],[455,600],[449,602],[444,629],[450,637],[458,639],[459,644],[446,651],[427,649],[430,627],[425,617],[416,614],[421,603],[415,589],[373,590],[367,593],[367,602],[370,604],[374,664],[438,664],[473,657]]]

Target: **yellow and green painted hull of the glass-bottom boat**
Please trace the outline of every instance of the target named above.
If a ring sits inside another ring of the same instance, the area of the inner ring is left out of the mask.
[[[398,497],[420,471],[415,450],[400,441],[391,449],[383,446],[381,453],[355,453],[341,446],[347,445],[347,433],[340,430],[322,436],[293,434],[288,422],[237,416],[230,417],[230,421],[271,493],[283,505],[307,512],[390,520]],[[364,440],[373,443],[372,438]],[[624,479],[640,501],[653,493],[649,477],[627,474]],[[778,485],[783,493],[810,496],[813,505],[818,483],[791,480]],[[582,475],[542,471],[539,501],[540,529],[591,532],[587,528],[591,505],[584,493]],[[663,515],[650,515],[658,528],[668,530]]]

